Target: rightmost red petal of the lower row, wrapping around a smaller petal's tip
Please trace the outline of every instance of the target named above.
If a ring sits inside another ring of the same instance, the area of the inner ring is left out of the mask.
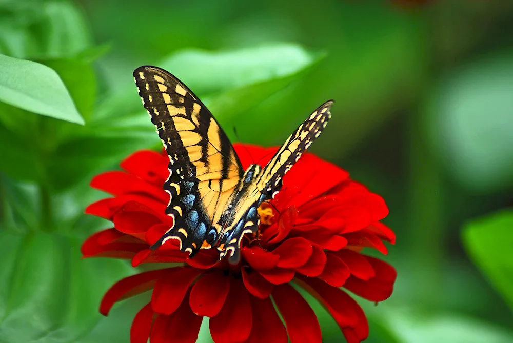
[[[344,284],[344,288],[370,301],[388,299],[392,295],[393,284],[396,281],[396,270],[382,260],[370,256],[362,256],[372,265],[376,276],[369,280],[362,280],[351,276]]]

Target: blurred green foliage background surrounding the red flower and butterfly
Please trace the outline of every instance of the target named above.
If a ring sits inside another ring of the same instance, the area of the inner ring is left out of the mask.
[[[147,295],[97,307],[137,270],[80,245],[108,227],[82,214],[105,196],[90,178],[160,146],[141,65],[233,141],[279,145],[336,100],[311,151],[382,195],[397,233],[394,294],[359,299],[368,342],[513,342],[513,2],[418,3],[1,1],[0,342],[128,341]]]

